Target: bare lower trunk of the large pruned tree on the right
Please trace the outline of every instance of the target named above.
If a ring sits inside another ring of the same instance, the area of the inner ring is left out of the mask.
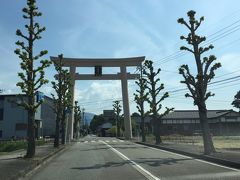
[[[211,154],[216,152],[212,136],[210,134],[208,119],[207,119],[207,109],[205,108],[206,105],[198,106],[199,110],[199,117],[200,117],[200,124],[202,128],[202,137],[203,137],[203,145],[204,145],[204,154]]]

